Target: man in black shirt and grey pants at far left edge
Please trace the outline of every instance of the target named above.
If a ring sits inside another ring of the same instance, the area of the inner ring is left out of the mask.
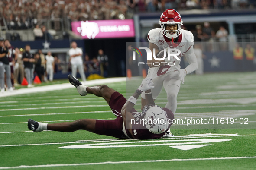
[[[0,38],[0,86],[1,93],[4,92],[4,71],[6,73],[6,82],[8,91],[13,91],[12,83],[11,83],[11,69],[9,66],[9,60],[7,55],[9,54],[8,48],[4,46],[4,39]]]

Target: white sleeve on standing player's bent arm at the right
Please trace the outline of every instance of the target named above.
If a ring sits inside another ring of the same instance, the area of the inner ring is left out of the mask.
[[[188,63],[189,63],[189,65],[185,68],[185,70],[187,71],[187,74],[198,69],[198,62],[197,62],[197,58],[194,54],[193,46],[191,46],[191,48],[187,51],[186,59],[188,60]]]

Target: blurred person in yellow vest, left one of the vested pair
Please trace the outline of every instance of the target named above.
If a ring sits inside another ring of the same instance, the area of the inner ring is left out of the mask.
[[[233,49],[233,56],[235,60],[236,72],[243,71],[243,48],[237,43]]]

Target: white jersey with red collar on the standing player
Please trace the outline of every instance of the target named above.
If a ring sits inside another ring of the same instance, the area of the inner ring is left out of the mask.
[[[169,39],[162,34],[161,28],[150,30],[148,34],[148,40],[149,42],[156,44],[157,47],[159,48],[159,51],[167,47],[179,49],[181,51],[181,54],[178,56],[180,59],[191,48],[191,46],[194,45],[193,34],[190,31],[186,31],[184,29],[181,29],[181,35],[179,35],[178,37],[178,42],[174,42],[175,44],[178,44],[177,47],[174,47],[172,45],[172,42],[170,42]],[[179,66],[180,61],[175,60],[173,63],[174,66],[165,65],[160,67],[149,68],[148,76],[154,79],[157,76],[161,76],[163,74],[171,72],[175,70],[175,66]]]

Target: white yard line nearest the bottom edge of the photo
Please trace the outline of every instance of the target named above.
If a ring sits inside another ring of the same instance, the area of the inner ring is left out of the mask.
[[[17,167],[0,167],[4,169],[19,169],[19,168],[38,168],[38,167],[67,167],[67,166],[85,166],[85,165],[103,165],[103,164],[132,164],[132,163],[149,163],[149,162],[170,162],[170,161],[206,161],[206,160],[224,160],[224,159],[248,159],[253,157],[209,157],[209,158],[189,158],[189,159],[167,159],[167,160],[145,160],[145,161],[107,161],[95,163],[80,163],[80,164],[48,164],[48,165],[21,165]]]

